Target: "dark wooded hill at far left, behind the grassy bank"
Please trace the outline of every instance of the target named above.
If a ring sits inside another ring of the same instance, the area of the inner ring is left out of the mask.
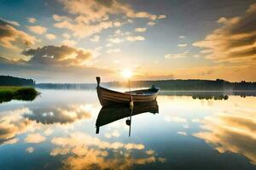
[[[0,76],[0,86],[34,86],[35,83],[32,79]]]

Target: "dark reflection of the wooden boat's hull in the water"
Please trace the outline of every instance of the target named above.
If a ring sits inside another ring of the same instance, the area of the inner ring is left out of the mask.
[[[100,127],[108,123],[118,121],[125,117],[130,117],[130,122],[126,121],[127,125],[131,125],[131,116],[142,114],[145,112],[158,113],[157,101],[145,102],[134,105],[130,109],[127,105],[107,105],[103,106],[96,120],[96,133],[99,133]],[[130,124],[129,124],[130,123]]]

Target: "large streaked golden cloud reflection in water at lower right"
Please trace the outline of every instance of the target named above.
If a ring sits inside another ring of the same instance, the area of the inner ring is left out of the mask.
[[[254,112],[218,114],[202,121],[205,131],[193,134],[212,144],[220,153],[227,151],[246,156],[256,164],[256,119]]]

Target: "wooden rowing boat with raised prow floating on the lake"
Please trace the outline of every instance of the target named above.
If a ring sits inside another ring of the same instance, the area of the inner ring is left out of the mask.
[[[159,93],[159,88],[154,88],[154,86],[148,89],[141,89],[141,90],[121,93],[121,92],[110,90],[108,88],[102,88],[100,86],[100,82],[101,82],[100,77],[96,77],[96,81],[97,81],[96,90],[102,106],[113,105],[116,103],[129,105],[131,100],[133,101],[134,104],[154,101],[156,100],[157,95]]]

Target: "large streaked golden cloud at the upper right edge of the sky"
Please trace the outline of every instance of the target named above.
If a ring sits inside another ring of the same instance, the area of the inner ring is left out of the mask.
[[[220,18],[218,23],[222,26],[193,45],[211,50],[207,59],[250,64],[256,58],[255,6],[253,3],[241,16]]]

